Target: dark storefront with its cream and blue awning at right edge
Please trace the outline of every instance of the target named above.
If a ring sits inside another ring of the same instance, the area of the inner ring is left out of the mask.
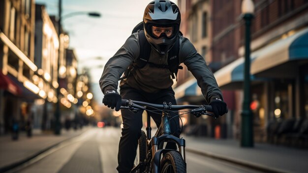
[[[307,104],[308,29],[264,48],[251,64],[251,73],[264,78],[268,119],[305,116]]]

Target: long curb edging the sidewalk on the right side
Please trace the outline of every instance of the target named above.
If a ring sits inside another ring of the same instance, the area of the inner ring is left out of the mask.
[[[206,152],[206,151],[202,151],[202,150],[198,150],[198,149],[192,149],[192,148],[186,147],[185,151],[195,153],[195,154],[198,154],[198,155],[202,155],[202,156],[206,156],[206,157],[211,157],[211,158],[214,158],[214,159],[217,159],[217,160],[222,160],[222,161],[230,162],[230,163],[233,163],[233,164],[241,165],[243,167],[254,169],[254,170],[265,172],[265,173],[289,173],[289,172],[282,171],[282,170],[279,170],[279,169],[276,169],[276,168],[269,168],[269,167],[266,167],[264,165],[259,165],[259,164],[255,164],[255,163],[251,163],[251,162],[247,162],[247,161],[243,161],[243,160],[239,160],[239,159],[235,159],[235,158],[221,156],[221,155],[218,155],[218,154],[213,154],[211,152]]]

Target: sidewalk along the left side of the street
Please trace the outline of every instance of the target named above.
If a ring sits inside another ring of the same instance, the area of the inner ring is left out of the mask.
[[[0,173],[28,161],[66,139],[76,137],[88,129],[89,127],[76,131],[62,130],[60,136],[34,131],[31,138],[28,138],[25,133],[21,133],[18,140],[12,140],[10,135],[2,136],[0,137]]]

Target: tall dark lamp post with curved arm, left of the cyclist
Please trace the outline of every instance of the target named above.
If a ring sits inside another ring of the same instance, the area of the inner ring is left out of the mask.
[[[59,0],[59,20],[58,20],[58,35],[59,35],[59,51],[58,51],[58,77],[57,77],[57,82],[59,84],[58,88],[57,88],[57,97],[58,97],[58,102],[56,104],[56,110],[55,110],[55,135],[60,135],[61,134],[61,122],[60,122],[60,118],[61,118],[61,110],[60,110],[60,102],[59,102],[59,96],[60,96],[60,77],[59,77],[59,68],[60,68],[60,54],[61,54],[61,21],[64,18],[68,18],[68,17],[72,17],[74,15],[79,15],[79,14],[88,14],[89,16],[93,16],[93,17],[100,17],[99,13],[96,12],[73,12],[73,13],[69,13],[66,14],[64,16],[62,16],[62,0]]]

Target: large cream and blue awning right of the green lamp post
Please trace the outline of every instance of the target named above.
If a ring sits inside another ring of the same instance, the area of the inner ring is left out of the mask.
[[[308,60],[308,28],[262,48],[250,71],[251,74],[263,73],[262,76],[292,77],[296,75],[293,71],[297,66],[286,63],[296,63],[296,60]],[[275,70],[271,70],[273,68]]]

